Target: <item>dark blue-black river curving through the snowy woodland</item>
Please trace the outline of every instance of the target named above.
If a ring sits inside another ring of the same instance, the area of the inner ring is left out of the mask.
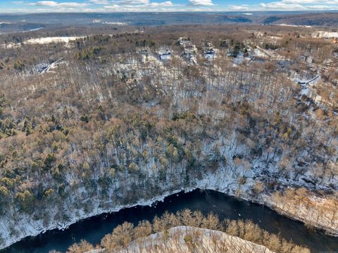
[[[37,237],[28,237],[1,251],[23,253],[48,253],[51,249],[61,252],[81,239],[92,244],[99,244],[101,238],[111,233],[113,228],[124,221],[138,223],[151,221],[154,216],[161,216],[165,211],[176,212],[182,209],[201,210],[204,214],[213,212],[220,219],[251,219],[261,228],[271,233],[280,233],[287,240],[304,245],[311,252],[338,253],[338,237],[330,237],[322,231],[308,230],[302,223],[278,215],[265,206],[229,197],[212,190],[194,190],[181,192],[156,202],[153,206],[135,206],[121,211],[87,218],[73,224],[67,230],[51,230]]]

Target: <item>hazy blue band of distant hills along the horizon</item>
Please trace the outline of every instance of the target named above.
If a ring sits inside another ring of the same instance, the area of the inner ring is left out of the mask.
[[[338,25],[338,12],[180,12],[180,13],[38,13],[0,14],[0,33],[37,29],[49,25],[135,26],[246,23],[256,25]]]

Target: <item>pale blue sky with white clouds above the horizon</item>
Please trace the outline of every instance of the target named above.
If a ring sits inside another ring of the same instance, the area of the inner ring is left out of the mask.
[[[338,0],[0,0],[0,13],[325,10],[338,10]]]

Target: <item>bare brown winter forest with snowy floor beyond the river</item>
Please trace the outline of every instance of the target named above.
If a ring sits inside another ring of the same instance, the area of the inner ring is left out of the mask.
[[[255,25],[92,31],[0,35],[1,247],[196,188],[337,235],[336,39]]]

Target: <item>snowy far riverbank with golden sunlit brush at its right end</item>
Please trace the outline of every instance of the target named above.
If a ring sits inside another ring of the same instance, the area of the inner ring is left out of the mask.
[[[251,173],[254,172],[251,171]],[[52,220],[48,221],[49,223],[44,223],[42,220],[34,221],[34,219],[30,216],[18,217],[21,229],[15,237],[11,236],[10,230],[8,229],[6,237],[4,237],[4,244],[1,248],[4,249],[5,247],[18,242],[25,237],[34,237],[39,234],[46,233],[48,230],[65,230],[70,225],[86,218],[117,212],[133,206],[151,206],[154,202],[161,202],[165,199],[165,197],[170,195],[175,195],[182,191],[192,192],[196,189],[214,190],[249,202],[264,204],[270,209],[273,209],[288,218],[302,221],[306,224],[311,224],[311,227],[326,230],[331,235],[338,235],[338,219],[333,219],[334,222],[332,223],[332,216],[334,217],[334,215],[331,214],[334,213],[334,211],[337,211],[337,209],[334,209],[334,206],[332,206],[331,209],[324,209],[323,206],[327,203],[325,202],[325,199],[311,196],[311,192],[308,191],[303,193],[301,196],[303,199],[306,199],[304,202],[300,202],[301,198],[300,196],[297,197],[297,192],[289,192],[289,195],[280,195],[279,197],[277,195],[273,195],[273,192],[269,194],[261,192],[260,195],[254,195],[252,189],[257,182],[260,182],[259,178],[253,180],[252,177],[248,177],[245,184],[239,184],[237,177],[232,174],[231,170],[227,168],[218,168],[218,170],[213,173],[206,173],[202,179],[195,179],[189,184],[189,187],[165,185],[165,187],[163,186],[163,189],[173,189],[176,187],[177,190],[163,191],[160,195],[152,197],[151,199],[139,199],[134,203],[116,204],[115,206],[113,206],[113,203],[108,203],[110,204],[108,208],[103,208],[100,202],[93,202],[94,206],[91,210],[88,212],[85,212],[83,209],[74,210],[70,214],[68,221],[63,223],[56,223]],[[313,199],[313,201],[310,202],[308,199]],[[315,204],[313,204],[313,202]],[[301,208],[299,208],[299,204],[301,203],[303,204]],[[308,211],[311,211],[311,214],[313,215],[309,216]],[[328,218],[329,216],[331,219]],[[2,224],[2,226],[4,226],[4,224]],[[3,228],[3,231],[6,232],[6,229]]]

